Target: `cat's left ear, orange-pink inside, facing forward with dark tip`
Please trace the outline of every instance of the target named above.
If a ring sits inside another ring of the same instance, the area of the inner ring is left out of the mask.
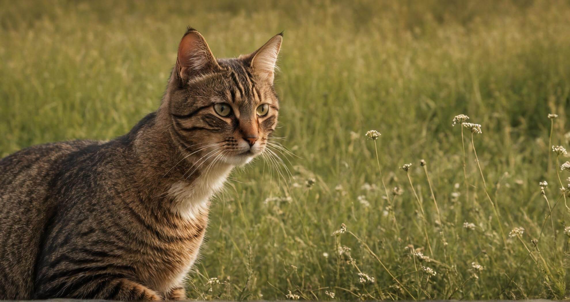
[[[178,45],[176,71],[181,84],[200,73],[220,69],[204,37],[189,27]]]

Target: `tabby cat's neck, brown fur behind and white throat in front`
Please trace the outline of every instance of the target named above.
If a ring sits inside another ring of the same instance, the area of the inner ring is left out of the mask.
[[[193,220],[207,214],[211,196],[222,188],[233,166],[185,155],[166,125],[152,113],[121,139],[131,146],[139,181],[158,198],[156,204]]]

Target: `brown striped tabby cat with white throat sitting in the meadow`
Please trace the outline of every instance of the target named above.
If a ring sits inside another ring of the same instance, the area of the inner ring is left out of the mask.
[[[185,299],[210,196],[275,129],[281,42],[214,59],[188,28],[160,107],[129,133],[0,160],[0,299]]]

